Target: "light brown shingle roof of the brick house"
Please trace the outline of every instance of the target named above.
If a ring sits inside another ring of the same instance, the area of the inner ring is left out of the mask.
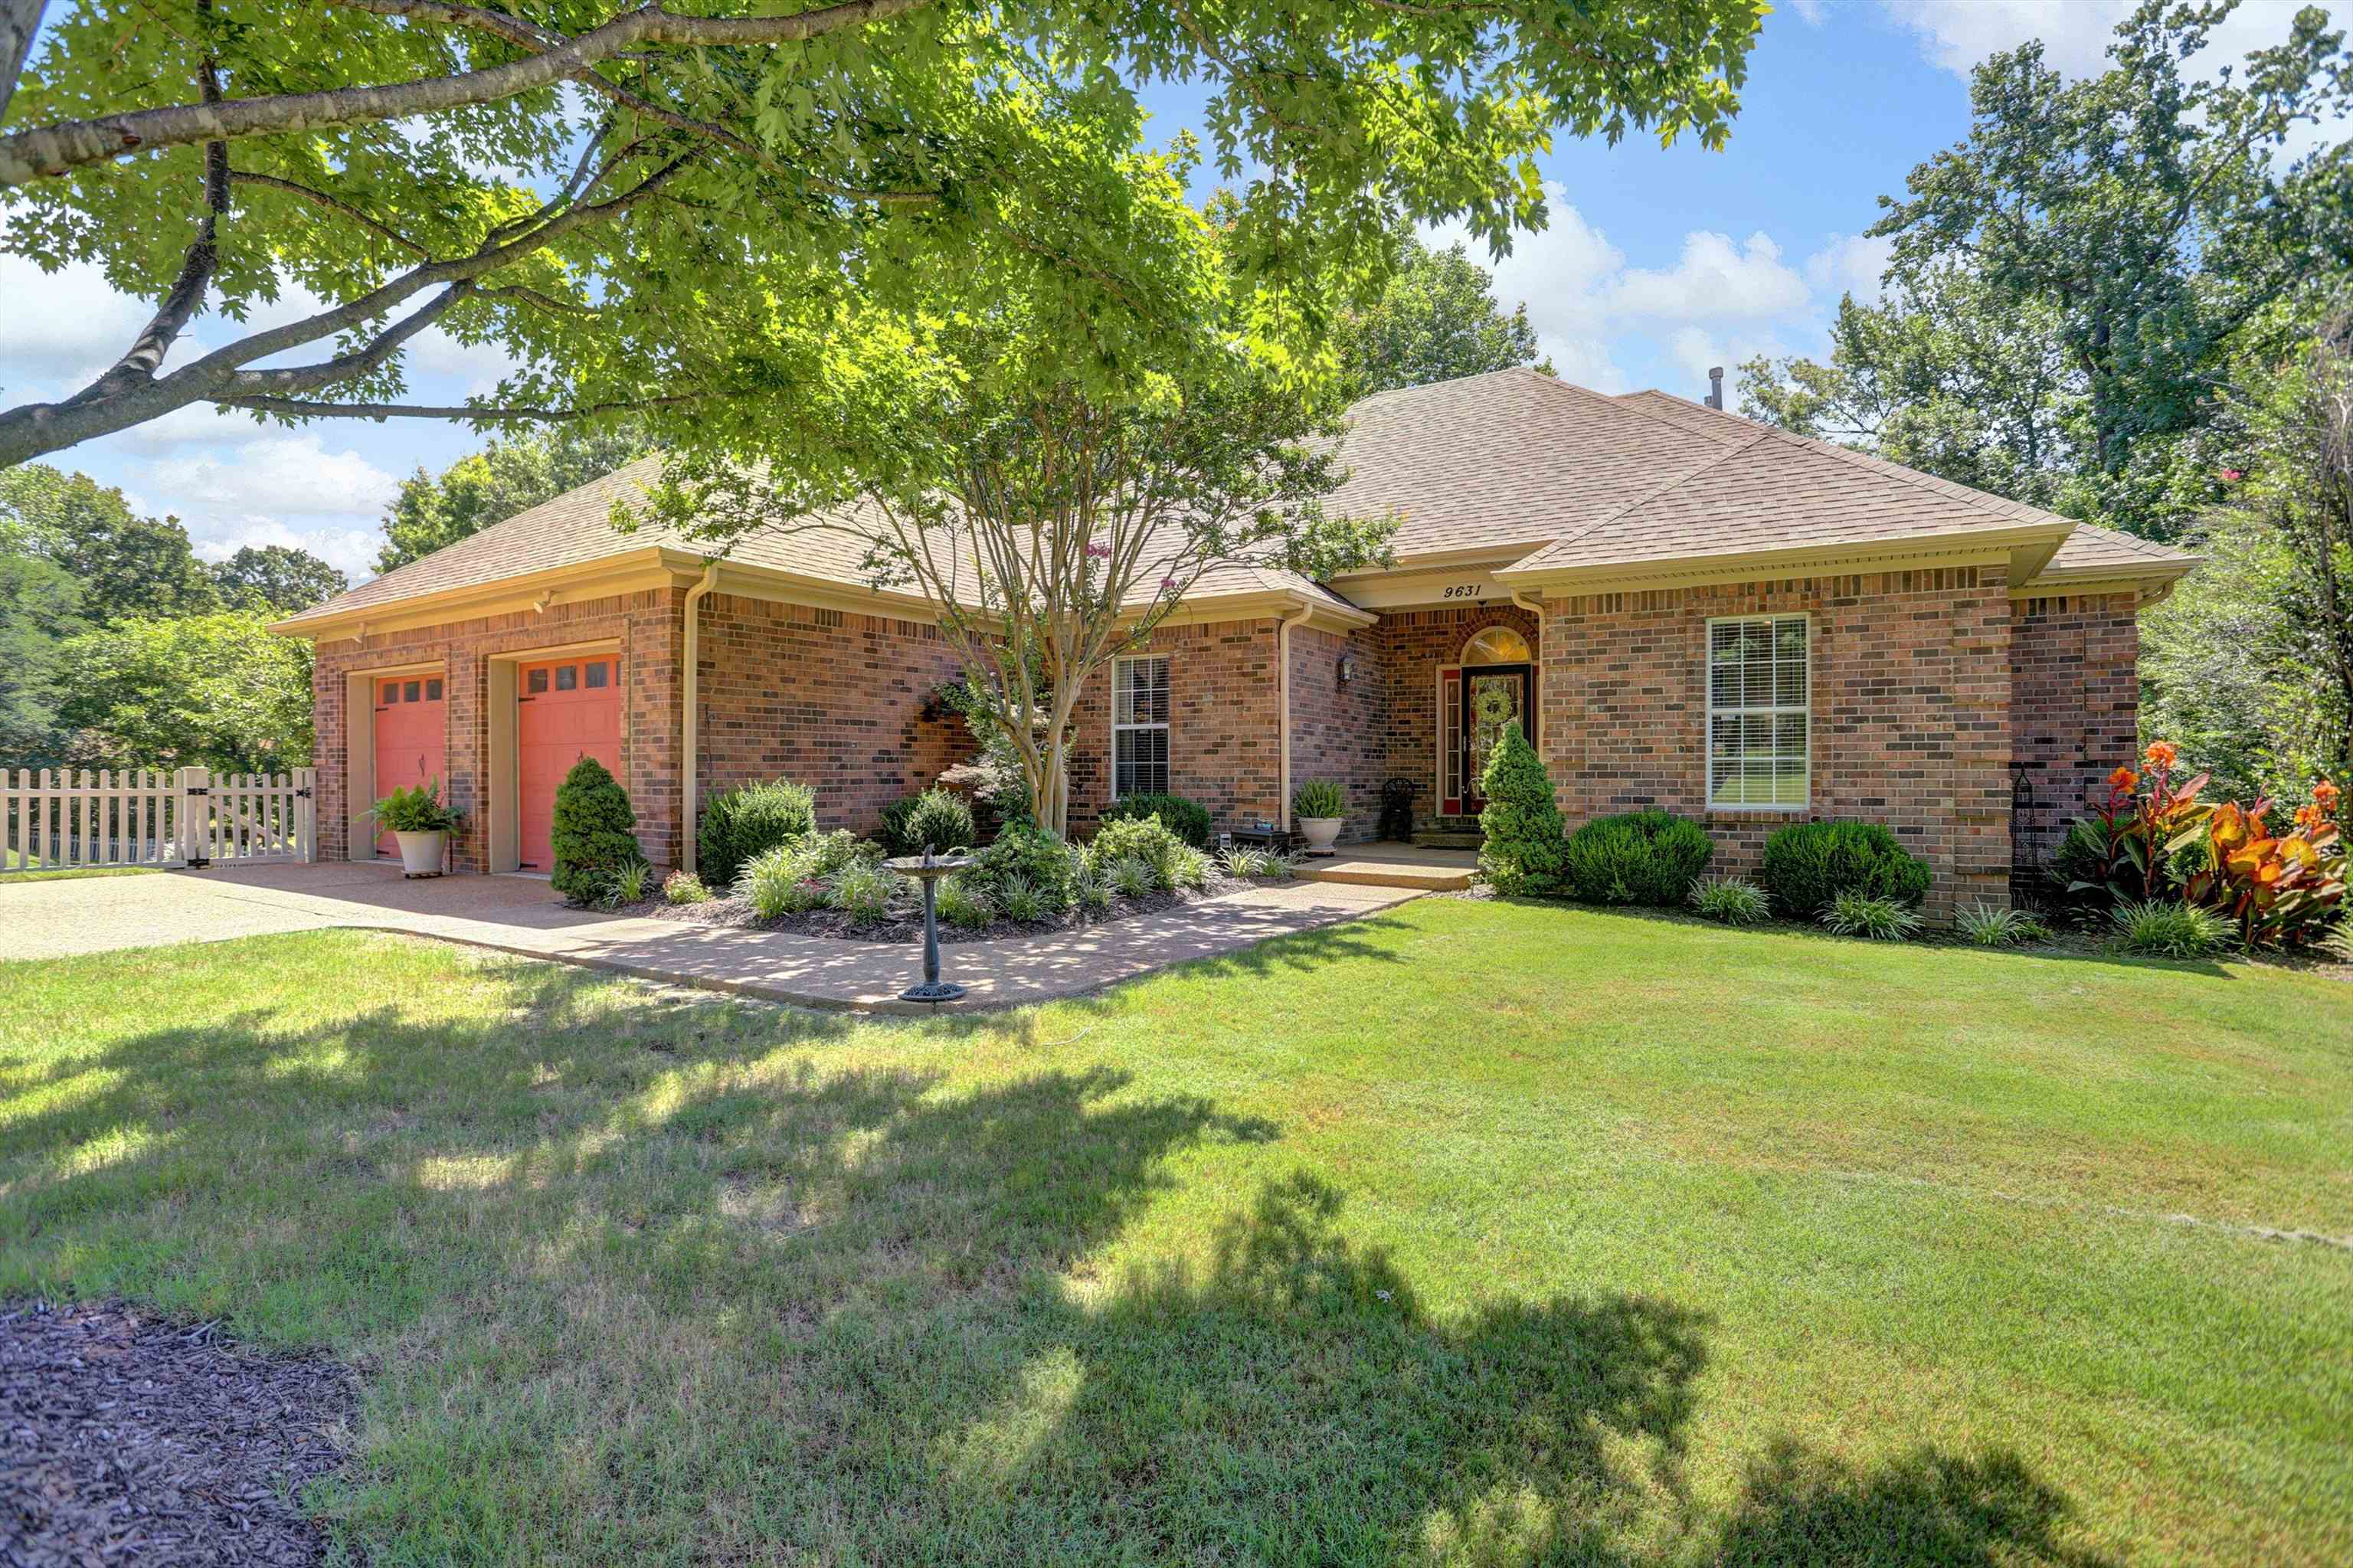
[[[2193,556],[1955,485],[1878,457],[1809,440],[1661,391],[1617,398],[1534,370],[1497,370],[1407,386],[1351,410],[1348,480],[1327,501],[1344,516],[1400,513],[1400,565],[1421,556],[1499,551],[1506,572],[1591,572],[1664,560],[1944,539],[2021,525],[2073,527],[2052,572],[2115,567],[2177,577]],[[386,572],[292,619],[346,617],[456,589],[668,546],[706,542],[671,527],[621,534],[612,504],[659,476],[647,457],[541,506]],[[762,532],[732,560],[864,589],[868,525],[852,506],[833,527]],[[1195,596],[1301,593],[1344,598],[1273,567],[1221,567]]]

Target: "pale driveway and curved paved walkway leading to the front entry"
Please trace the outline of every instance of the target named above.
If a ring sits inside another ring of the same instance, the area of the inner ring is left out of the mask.
[[[1188,958],[1212,958],[1414,897],[1405,888],[1280,883],[1049,937],[955,942],[955,1008],[1080,996]],[[899,1001],[922,977],[913,942],[842,942],[567,909],[544,881],[447,876],[405,881],[376,864],[242,866],[82,883],[0,885],[7,958],[59,958],[162,942],[360,928],[466,942],[668,984],[805,1008],[929,1012]]]

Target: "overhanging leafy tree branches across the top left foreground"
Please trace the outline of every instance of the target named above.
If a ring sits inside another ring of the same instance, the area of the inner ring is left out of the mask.
[[[1151,80],[1207,87],[1219,170],[1252,172],[1235,238],[1261,278],[1369,297],[1400,226],[1541,224],[1534,158],[1560,132],[1720,146],[1762,9],[75,0],[26,59],[40,0],[0,0],[0,250],[155,306],[87,386],[0,410],[0,466],[193,405],[638,410],[694,443],[701,405],[779,372],[741,363],[713,299],[814,330],[1009,259],[1096,330],[1151,332],[1153,290],[1089,238],[1118,226]],[[1318,301],[1289,299],[1313,332]],[[508,374],[412,400],[440,334]]]

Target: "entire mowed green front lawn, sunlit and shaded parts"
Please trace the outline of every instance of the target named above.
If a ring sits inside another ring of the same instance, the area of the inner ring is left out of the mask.
[[[936,1022],[0,968],[0,1297],[348,1356],[372,1563],[2341,1563],[2348,1151],[2337,975],[1513,904]]]

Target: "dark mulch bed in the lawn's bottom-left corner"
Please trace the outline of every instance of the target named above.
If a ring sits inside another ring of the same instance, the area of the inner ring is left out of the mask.
[[[332,1356],[242,1349],[122,1302],[0,1307],[0,1561],[318,1563],[304,1483],[358,1413]]]

